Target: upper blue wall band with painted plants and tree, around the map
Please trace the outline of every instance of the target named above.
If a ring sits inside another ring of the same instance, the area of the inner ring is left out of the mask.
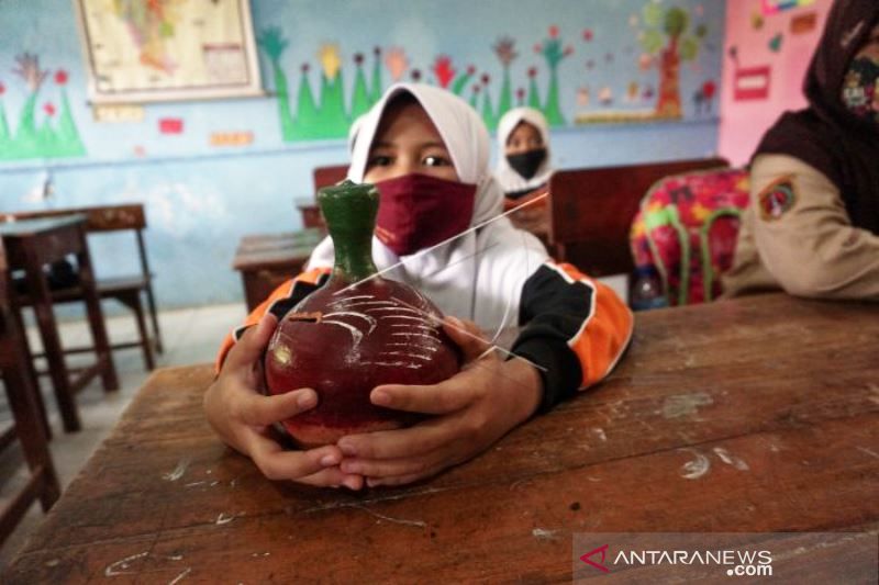
[[[146,0],[126,5],[137,2]],[[491,130],[522,104],[542,110],[554,128],[712,120],[717,111],[723,2],[259,0],[252,5],[263,97],[145,104],[91,100],[74,4],[64,19],[49,5],[0,8],[10,26],[30,26],[19,15],[31,13],[46,31],[18,45],[0,38],[0,59],[12,66],[0,61],[0,160],[308,147],[345,138],[401,80],[455,92]]]

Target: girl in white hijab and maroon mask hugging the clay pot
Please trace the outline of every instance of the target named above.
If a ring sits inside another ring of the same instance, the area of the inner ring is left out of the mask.
[[[387,275],[418,288],[447,315],[463,370],[434,386],[372,391],[374,404],[435,415],[410,428],[308,451],[285,451],[272,440],[272,424],[313,407],[319,396],[310,389],[263,396],[258,362],[277,318],[326,282],[334,263],[327,238],[305,272],[257,307],[246,331],[225,340],[204,397],[215,431],[268,477],[352,490],[413,482],[474,458],[535,413],[602,380],[625,350],[633,322],[611,289],[554,263],[532,235],[499,217],[503,193],[489,170],[488,132],[464,100],[399,83],[358,126],[348,177],[381,193],[375,263],[382,270],[402,261]],[[430,249],[445,234],[461,236]],[[512,351],[528,361],[486,351],[480,327],[493,334],[511,326],[523,327]]]

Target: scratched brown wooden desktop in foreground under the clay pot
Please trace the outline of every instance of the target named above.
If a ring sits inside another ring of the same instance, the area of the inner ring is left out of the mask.
[[[210,367],[163,370],[0,581],[555,582],[574,532],[875,528],[877,356],[879,305],[638,314],[601,386],[363,494],[263,479],[202,418]]]

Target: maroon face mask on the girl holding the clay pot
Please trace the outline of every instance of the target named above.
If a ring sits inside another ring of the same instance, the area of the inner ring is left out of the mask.
[[[397,256],[435,246],[470,225],[475,184],[412,173],[376,187],[381,193],[376,237]]]

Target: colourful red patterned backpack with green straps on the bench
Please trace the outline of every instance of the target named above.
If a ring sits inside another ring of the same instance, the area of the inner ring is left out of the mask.
[[[669,306],[716,299],[720,274],[733,263],[742,212],[748,204],[745,169],[666,177],[641,203],[630,233],[636,269],[655,269]]]

